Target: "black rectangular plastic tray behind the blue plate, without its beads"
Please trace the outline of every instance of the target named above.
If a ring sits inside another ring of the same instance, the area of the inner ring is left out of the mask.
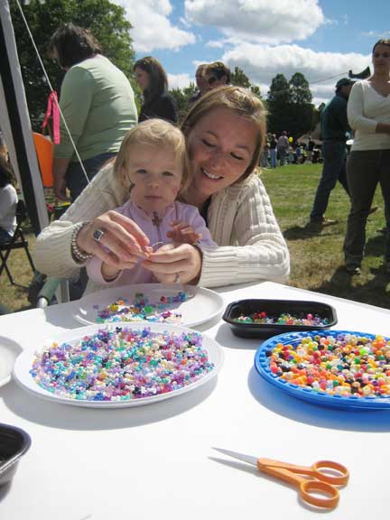
[[[326,325],[287,325],[235,321],[241,315],[250,316],[254,312],[262,311],[265,311],[269,317],[276,317],[283,313],[289,313],[297,318],[305,317],[308,314],[318,315],[321,320],[327,319],[328,323]],[[295,300],[238,300],[228,304],[222,319],[231,325],[236,336],[242,338],[269,338],[292,330],[325,330],[337,323],[336,311],[331,305],[322,302]]]

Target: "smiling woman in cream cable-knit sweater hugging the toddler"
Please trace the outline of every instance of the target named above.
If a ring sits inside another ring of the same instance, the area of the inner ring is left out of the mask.
[[[245,88],[211,90],[190,109],[182,130],[192,166],[184,200],[200,209],[218,247],[166,245],[143,265],[163,283],[283,282],[289,274],[288,249],[255,173],[265,138],[262,102]],[[109,211],[126,197],[112,165],[99,172],[79,200],[38,237],[38,268],[70,277],[91,255],[104,259],[101,246],[112,251],[112,265],[142,254],[149,245],[142,230]],[[97,230],[103,231],[98,243]]]

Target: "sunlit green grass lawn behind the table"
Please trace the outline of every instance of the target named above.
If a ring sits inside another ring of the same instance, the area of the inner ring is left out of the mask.
[[[292,274],[289,284],[390,309],[390,277],[385,276],[382,268],[385,236],[379,230],[385,226],[385,216],[380,190],[377,190],[375,200],[379,209],[367,222],[362,274],[351,277],[344,269],[342,254],[349,202],[339,184],[330,194],[327,211],[327,216],[337,219],[338,224],[317,231],[306,226],[320,172],[320,164],[292,164],[262,174],[290,249]],[[29,234],[28,239],[33,248],[33,235]],[[17,282],[28,285],[32,273],[23,250],[12,252],[9,266]],[[20,311],[30,305],[26,294],[22,287],[10,285],[5,273],[2,274],[0,302],[12,311]]]

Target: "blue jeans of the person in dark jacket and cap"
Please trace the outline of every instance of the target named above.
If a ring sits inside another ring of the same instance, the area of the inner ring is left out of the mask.
[[[348,190],[346,162],[347,149],[342,141],[324,141],[322,144],[323,168],[317,193],[311,209],[311,220],[322,220],[330,198],[330,191],[340,182]]]

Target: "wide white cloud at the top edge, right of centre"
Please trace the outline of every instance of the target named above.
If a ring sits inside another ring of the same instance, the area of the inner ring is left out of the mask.
[[[185,0],[190,23],[250,42],[304,40],[325,23],[318,0]]]

